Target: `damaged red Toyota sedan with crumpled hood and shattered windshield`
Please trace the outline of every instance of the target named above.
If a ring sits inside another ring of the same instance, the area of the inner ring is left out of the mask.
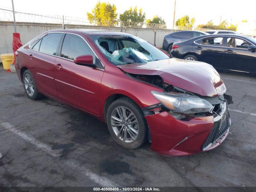
[[[228,96],[218,72],[169,58],[137,36],[51,30],[16,58],[28,98],[45,95],[89,113],[126,148],[148,140],[154,151],[184,156],[212,150],[228,135]]]

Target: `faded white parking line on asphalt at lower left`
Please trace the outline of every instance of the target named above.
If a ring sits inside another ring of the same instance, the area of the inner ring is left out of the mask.
[[[53,156],[55,158],[58,158],[60,156],[60,154],[58,152],[52,150],[51,147],[48,144],[40,142],[32,136],[28,136],[25,132],[22,132],[22,131],[16,129],[12,124],[10,124],[8,122],[2,122],[2,120],[0,120],[0,124],[4,128],[6,128],[6,130],[9,130],[10,132],[13,132],[14,134],[20,136],[22,139],[26,140],[27,142],[31,143],[32,145],[36,146],[37,148],[40,148],[41,150],[43,150],[47,154],[50,154],[51,156]],[[90,178],[90,180],[99,184],[100,186],[120,187],[115,182],[113,182],[113,181],[111,181],[111,180],[109,180],[109,179],[107,179],[103,176],[99,176],[98,174],[90,171],[84,165],[78,164],[77,162],[70,161],[70,160],[61,160],[61,161],[63,161],[64,164],[66,164],[67,166],[69,166],[69,167],[71,167],[75,170],[78,170],[80,173],[84,174],[85,176]]]

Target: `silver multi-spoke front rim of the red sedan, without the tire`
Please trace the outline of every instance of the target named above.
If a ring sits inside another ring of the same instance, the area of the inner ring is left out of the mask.
[[[134,142],[138,138],[138,120],[134,113],[124,106],[112,111],[111,126],[116,136],[123,142]]]

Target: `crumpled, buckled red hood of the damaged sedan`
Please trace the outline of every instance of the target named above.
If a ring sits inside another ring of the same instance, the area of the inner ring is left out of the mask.
[[[201,96],[212,97],[226,92],[218,72],[204,62],[171,58],[146,64],[119,65],[118,68],[131,74],[159,75],[167,84]]]

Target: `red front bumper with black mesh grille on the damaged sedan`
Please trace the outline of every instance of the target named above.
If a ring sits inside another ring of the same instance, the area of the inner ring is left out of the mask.
[[[178,120],[167,111],[145,114],[152,150],[165,155],[185,156],[212,150],[227,137],[230,116],[225,102],[215,116]]]

